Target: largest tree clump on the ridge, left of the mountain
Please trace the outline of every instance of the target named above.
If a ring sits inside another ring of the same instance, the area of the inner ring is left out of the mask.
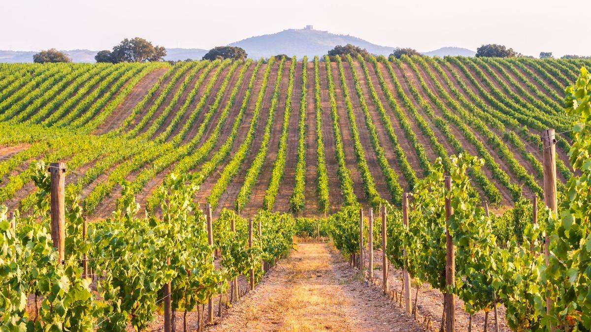
[[[163,46],[154,46],[150,41],[144,38],[135,37],[133,39],[125,38],[118,45],[113,47],[113,51],[100,51],[96,54],[96,62],[146,62],[146,61],[164,61],[166,48]]]

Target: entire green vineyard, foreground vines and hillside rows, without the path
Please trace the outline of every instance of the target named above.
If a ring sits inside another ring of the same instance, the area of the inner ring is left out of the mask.
[[[0,323],[152,330],[164,316],[201,330],[214,298],[221,315],[297,235],[330,238],[420,329],[472,328],[479,313],[487,326],[493,311],[511,330],[590,330],[581,67],[591,61],[0,64]],[[421,287],[444,299],[439,313],[417,309]]]

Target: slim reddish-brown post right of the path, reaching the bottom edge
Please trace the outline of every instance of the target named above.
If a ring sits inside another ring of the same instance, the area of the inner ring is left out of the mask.
[[[445,281],[447,286],[454,287],[456,284],[456,253],[453,246],[452,235],[449,233],[449,219],[453,214],[452,208],[452,177],[445,177],[445,234],[446,234],[446,263],[445,263]],[[456,323],[456,305],[453,293],[444,292],[444,310],[445,310],[445,330],[446,332],[455,331]]]

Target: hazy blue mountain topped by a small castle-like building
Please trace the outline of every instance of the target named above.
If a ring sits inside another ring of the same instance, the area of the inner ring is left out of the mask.
[[[353,44],[365,48],[369,53],[388,56],[394,47],[385,47],[350,35],[332,34],[314,30],[311,25],[303,29],[287,29],[275,34],[246,38],[229,44],[244,48],[248,57],[271,57],[277,54],[288,56],[323,56],[336,45]]]

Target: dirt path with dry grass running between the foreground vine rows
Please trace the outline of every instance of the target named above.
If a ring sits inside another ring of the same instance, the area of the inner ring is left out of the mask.
[[[326,243],[300,243],[211,331],[421,331]]]

